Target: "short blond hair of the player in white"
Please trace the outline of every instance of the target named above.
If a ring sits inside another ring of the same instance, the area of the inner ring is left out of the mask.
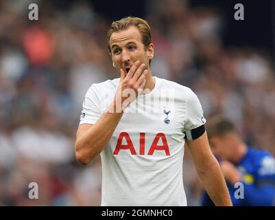
[[[125,30],[125,29],[129,28],[130,26],[134,26],[139,29],[139,32],[141,33],[141,41],[144,45],[145,50],[147,50],[150,43],[152,43],[150,25],[147,23],[147,21],[145,21],[139,17],[125,17],[118,21],[112,22],[112,25],[110,26],[110,29],[108,30],[107,41],[108,41],[108,50],[110,53],[111,53],[110,36],[112,35],[112,33],[119,32],[120,30]]]

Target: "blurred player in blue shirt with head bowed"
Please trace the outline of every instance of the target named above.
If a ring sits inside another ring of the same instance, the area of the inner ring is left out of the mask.
[[[233,205],[274,206],[274,157],[267,151],[248,147],[234,124],[221,116],[209,120],[206,129],[211,150],[219,158]],[[206,193],[202,197],[202,205],[213,205]]]

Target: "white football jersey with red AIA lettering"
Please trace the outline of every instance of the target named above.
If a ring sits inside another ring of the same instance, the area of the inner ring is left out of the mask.
[[[130,104],[100,153],[101,206],[187,206],[184,137],[192,140],[191,131],[205,123],[202,106],[188,87],[154,78],[154,89]],[[116,78],[88,89],[80,124],[99,120],[118,84]]]

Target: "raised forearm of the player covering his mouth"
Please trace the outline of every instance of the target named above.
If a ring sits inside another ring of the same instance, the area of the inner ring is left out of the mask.
[[[101,153],[110,137],[114,133],[117,124],[121,120],[123,112],[115,113],[110,109],[115,108],[115,102],[110,105],[109,111],[101,115],[101,118],[91,126],[75,142],[75,154],[81,164],[89,164]]]

